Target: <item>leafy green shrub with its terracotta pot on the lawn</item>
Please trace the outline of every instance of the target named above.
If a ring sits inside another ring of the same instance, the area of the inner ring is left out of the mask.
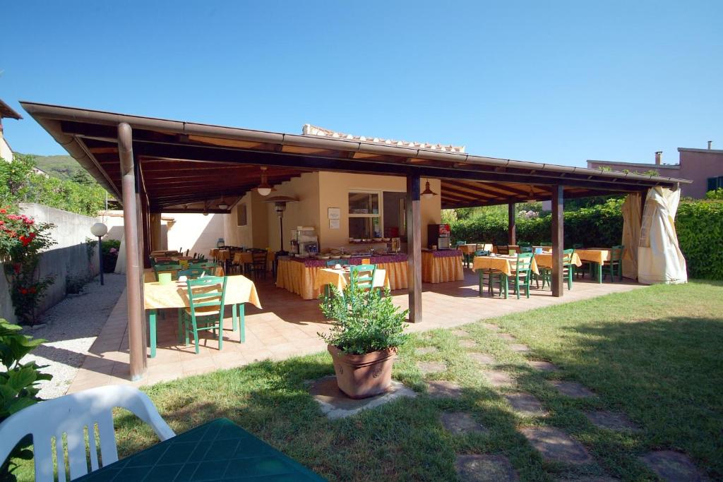
[[[320,308],[333,320],[328,343],[339,390],[351,398],[386,392],[392,382],[397,348],[406,341],[403,333],[408,310],[392,304],[389,290],[364,289],[350,283],[343,293],[332,287],[320,296]]]

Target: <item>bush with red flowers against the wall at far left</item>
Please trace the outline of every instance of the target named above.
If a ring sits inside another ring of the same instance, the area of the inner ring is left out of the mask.
[[[35,321],[38,302],[54,281],[52,276],[40,278],[38,272],[40,252],[55,244],[48,235],[53,227],[13,214],[9,207],[0,209],[0,262],[9,281],[15,316],[30,324]]]

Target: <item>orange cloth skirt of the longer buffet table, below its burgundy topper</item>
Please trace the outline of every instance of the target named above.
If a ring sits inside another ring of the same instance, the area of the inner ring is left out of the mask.
[[[407,288],[407,263],[377,263],[377,270],[384,270],[391,290]],[[322,285],[317,285],[319,270],[325,267],[306,266],[303,262],[279,259],[276,270],[276,287],[296,293],[305,300],[319,297]]]

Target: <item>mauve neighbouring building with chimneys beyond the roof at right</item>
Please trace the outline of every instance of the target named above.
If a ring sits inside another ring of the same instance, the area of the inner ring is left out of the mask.
[[[723,188],[723,150],[716,150],[708,142],[707,149],[678,147],[677,164],[662,163],[662,152],[655,153],[655,163],[621,163],[610,160],[588,160],[589,168],[609,167],[613,171],[646,172],[654,170],[660,176],[690,179],[693,184],[683,186],[683,196],[703,199],[706,192]]]

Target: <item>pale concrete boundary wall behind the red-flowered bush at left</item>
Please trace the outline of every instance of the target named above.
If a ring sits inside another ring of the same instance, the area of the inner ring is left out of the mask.
[[[40,277],[53,275],[55,283],[48,288],[46,296],[40,301],[38,313],[46,311],[63,298],[66,293],[66,282],[71,277],[90,277],[98,274],[98,247],[88,259],[86,238],[93,238],[90,226],[100,222],[100,218],[90,218],[35,203],[22,203],[22,214],[30,216],[38,223],[53,223],[51,237],[57,244],[43,253],[40,259]],[[10,299],[9,283],[2,270],[0,275],[0,318],[16,322]]]

